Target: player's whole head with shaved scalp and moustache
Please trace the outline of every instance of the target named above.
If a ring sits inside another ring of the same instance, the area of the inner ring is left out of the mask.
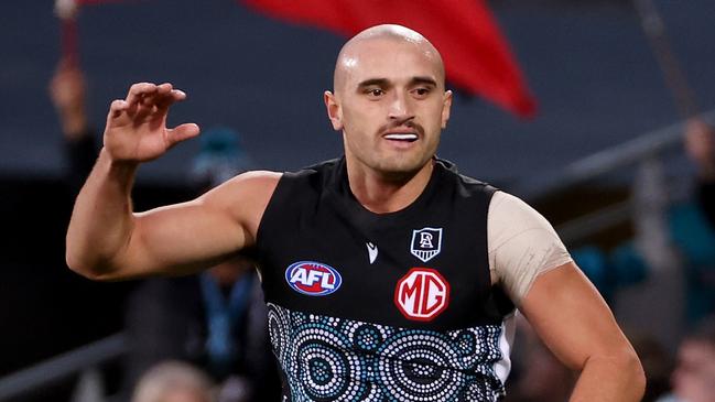
[[[452,93],[440,53],[421,34],[400,25],[360,32],[343,46],[333,85],[325,105],[348,165],[400,177],[434,155]]]

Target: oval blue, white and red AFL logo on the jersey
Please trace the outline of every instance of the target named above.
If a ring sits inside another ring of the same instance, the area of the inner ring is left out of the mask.
[[[337,270],[314,261],[299,261],[285,270],[285,281],[294,291],[308,296],[325,296],[340,287]]]

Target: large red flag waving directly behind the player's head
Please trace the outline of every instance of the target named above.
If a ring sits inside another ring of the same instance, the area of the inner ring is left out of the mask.
[[[434,44],[447,79],[521,116],[531,117],[531,96],[507,41],[484,0],[243,0],[272,17],[348,36],[394,23]]]

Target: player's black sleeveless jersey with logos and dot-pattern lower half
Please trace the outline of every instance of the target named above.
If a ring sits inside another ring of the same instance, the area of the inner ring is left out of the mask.
[[[513,305],[490,282],[494,191],[435,159],[415,202],[373,214],[344,159],[285,173],[256,247],[284,400],[499,400]]]

